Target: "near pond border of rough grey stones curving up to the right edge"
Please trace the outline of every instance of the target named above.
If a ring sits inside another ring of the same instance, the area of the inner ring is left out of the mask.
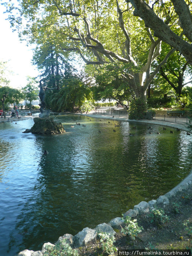
[[[151,200],[148,203],[147,202],[140,202],[139,204],[135,205],[133,209],[129,209],[127,212],[125,212],[123,215],[124,217],[136,217],[140,213],[145,213],[150,211],[150,208],[154,208],[154,206],[158,206],[159,204],[163,204],[166,206],[166,204],[169,204],[169,200],[171,200],[171,197],[174,196],[177,192],[182,191],[183,189],[186,189],[189,185],[192,184],[192,169],[187,177],[184,178],[176,187],[174,187],[172,190],[167,192],[163,196],[159,196],[157,200]],[[102,223],[97,225],[94,229],[90,229],[89,227],[85,227],[82,231],[80,231],[75,236],[72,236],[71,234],[64,234],[63,236],[59,237],[56,244],[60,244],[62,241],[65,240],[66,243],[71,245],[72,248],[78,248],[80,246],[85,246],[87,243],[93,241],[97,234],[100,232],[106,232],[110,234],[116,234],[114,229],[121,229],[121,226],[124,225],[124,221],[121,217],[117,217],[112,219],[108,224]],[[18,256],[43,256],[46,252],[46,246],[55,246],[51,243],[45,243],[42,246],[41,251],[29,251],[24,250],[22,252],[19,252]]]

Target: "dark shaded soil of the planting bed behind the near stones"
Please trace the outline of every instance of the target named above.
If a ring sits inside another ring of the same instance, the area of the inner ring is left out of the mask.
[[[155,221],[151,213],[142,214],[136,217],[138,226],[143,227],[143,231],[138,234],[135,240],[129,236],[117,232],[114,245],[118,250],[123,249],[192,249],[192,185],[188,189],[177,192],[170,199],[165,207],[158,209],[164,211],[168,220]],[[184,226],[188,222],[188,229]],[[163,223],[164,222],[164,223]],[[79,255],[108,255],[103,254],[99,238],[78,249]],[[117,252],[114,254],[117,255]]]

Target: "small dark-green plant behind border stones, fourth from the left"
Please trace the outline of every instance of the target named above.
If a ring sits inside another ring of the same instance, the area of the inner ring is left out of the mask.
[[[154,222],[160,227],[169,220],[169,217],[165,214],[165,212],[162,209],[157,208],[152,209],[148,217],[150,218],[151,223]]]

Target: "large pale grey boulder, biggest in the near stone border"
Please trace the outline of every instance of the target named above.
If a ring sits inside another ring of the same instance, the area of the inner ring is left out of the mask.
[[[97,231],[85,227],[82,231],[75,235],[75,244],[74,247],[85,246],[90,241],[94,240],[97,237]]]

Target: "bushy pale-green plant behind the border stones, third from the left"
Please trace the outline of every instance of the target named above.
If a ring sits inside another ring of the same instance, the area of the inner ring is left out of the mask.
[[[125,227],[121,229],[121,232],[125,235],[129,235],[131,239],[135,240],[135,237],[143,230],[143,227],[139,227],[137,220],[131,220],[131,217],[127,216],[124,220]]]

